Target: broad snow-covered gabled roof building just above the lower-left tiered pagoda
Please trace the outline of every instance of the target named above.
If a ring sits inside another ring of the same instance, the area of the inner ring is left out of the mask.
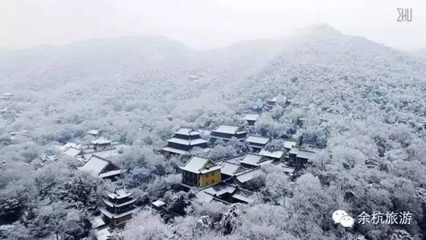
[[[79,169],[94,177],[108,178],[111,180],[115,180],[116,177],[126,172],[126,170],[122,170],[119,166],[111,163],[110,160],[101,158],[97,155],[92,155],[89,160],[87,160],[87,163]]]

